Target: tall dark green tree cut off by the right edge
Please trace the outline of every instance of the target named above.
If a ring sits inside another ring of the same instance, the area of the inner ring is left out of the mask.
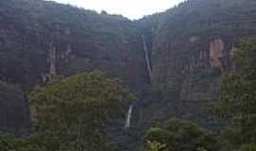
[[[216,108],[216,113],[231,121],[223,132],[229,149],[256,143],[256,40],[244,42],[234,62],[235,71],[222,78],[221,100]]]

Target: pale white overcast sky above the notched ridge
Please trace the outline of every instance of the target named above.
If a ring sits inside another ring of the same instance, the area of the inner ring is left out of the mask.
[[[173,8],[184,0],[54,0],[80,8],[106,10],[111,14],[121,14],[130,19],[139,19],[144,15]]]

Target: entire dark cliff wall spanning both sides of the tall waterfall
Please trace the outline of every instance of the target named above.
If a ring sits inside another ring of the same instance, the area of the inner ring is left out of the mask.
[[[1,0],[0,79],[28,92],[54,75],[102,70],[138,95],[131,129],[170,115],[205,122],[203,108],[218,99],[234,51],[256,35],[255,12],[255,0],[189,0],[132,22],[53,2]]]

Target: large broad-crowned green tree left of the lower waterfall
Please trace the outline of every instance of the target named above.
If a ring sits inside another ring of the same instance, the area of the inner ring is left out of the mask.
[[[30,93],[36,133],[18,150],[108,150],[107,124],[121,117],[123,99],[135,96],[101,72],[53,80]]]

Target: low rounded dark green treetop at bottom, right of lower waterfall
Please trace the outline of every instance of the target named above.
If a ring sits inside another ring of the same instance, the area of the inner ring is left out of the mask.
[[[158,148],[160,151],[163,149],[167,151],[197,151],[202,148],[215,151],[218,149],[217,142],[209,132],[191,122],[177,119],[149,129],[145,140],[153,144],[165,144],[164,147]]]

